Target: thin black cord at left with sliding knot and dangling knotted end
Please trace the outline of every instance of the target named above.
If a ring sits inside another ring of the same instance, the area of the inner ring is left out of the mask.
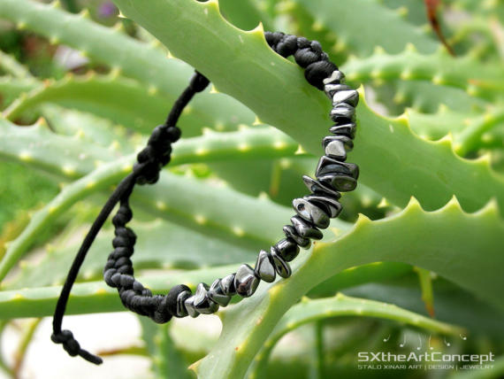
[[[184,107],[189,103],[195,93],[201,92],[208,86],[208,84],[209,81],[207,78],[205,78],[201,73],[195,72],[195,75],[191,78],[187,89],[182,92],[180,97],[173,104],[172,110],[164,122],[164,125],[157,127],[158,130],[161,128],[166,129],[175,127],[177,121],[179,120],[180,113],[184,110]],[[172,135],[172,138],[175,138],[176,140],[179,138],[179,135]],[[114,206],[117,205],[119,201],[121,204],[127,204],[127,200],[134,189],[135,182],[138,182],[139,184],[153,184],[157,182],[159,179],[159,171],[170,160],[170,152],[172,151],[170,143],[165,146],[164,151],[160,151],[160,149],[156,149],[155,146],[156,143],[159,143],[158,140],[161,140],[161,133],[157,133],[157,139],[152,139],[151,136],[148,146],[150,149],[144,149],[141,151],[138,155],[138,162],[134,165],[133,173],[128,174],[126,178],[118,184],[116,190],[114,190],[111,197],[109,197],[105,205],[103,205],[102,211],[98,214],[98,217],[96,217],[96,220],[93,222],[93,225],[91,225],[91,228],[89,228],[88,235],[84,238],[84,241],[80,245],[79,252],[75,256],[75,259],[73,259],[72,267],[70,267],[68,275],[66,276],[65,285],[63,286],[59,298],[57,299],[57,305],[52,321],[52,341],[56,344],[63,344],[65,351],[71,356],[80,355],[80,357],[91,363],[95,363],[95,365],[101,364],[103,360],[100,357],[81,349],[80,344],[73,337],[73,333],[70,330],[61,329],[66,304],[68,303],[73,283],[79,274],[80,267],[82,266],[84,259],[86,259],[86,254],[88,253],[91,244],[95,241],[96,235],[103,227],[105,220],[107,220],[114,209]],[[162,141],[159,144],[163,145]],[[157,147],[159,147],[159,144]]]

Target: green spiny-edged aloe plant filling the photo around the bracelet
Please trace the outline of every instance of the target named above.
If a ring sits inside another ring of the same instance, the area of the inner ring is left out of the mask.
[[[23,377],[83,227],[193,68],[212,88],[183,112],[183,138],[160,181],[132,197],[136,274],[154,293],[179,283],[194,290],[253,264],[279,239],[292,198],[305,192],[301,175],[323,153],[329,108],[302,69],[269,48],[263,31],[275,28],[317,39],[359,88],[349,153],[359,187],[290,278],[221,308],[218,322],[199,319],[220,323],[218,337],[142,319],[141,345],[104,356],[149,360],[145,375],[158,378],[413,378],[434,371],[371,370],[357,352],[491,352],[488,367],[464,375],[445,367],[436,377],[504,375],[500,2],[443,2],[437,15],[455,56],[423,2],[114,0],[112,27],[92,3],[0,0],[0,34],[17,38],[0,44],[0,213],[16,214],[0,225],[0,336],[22,326],[0,354],[6,375]],[[19,53],[27,49],[19,41],[34,36],[51,46],[49,75]],[[73,70],[54,54],[68,48],[85,57]],[[26,177],[53,198],[30,192]],[[18,192],[30,205],[14,200]],[[67,313],[125,312],[102,279],[111,236],[106,224]]]

